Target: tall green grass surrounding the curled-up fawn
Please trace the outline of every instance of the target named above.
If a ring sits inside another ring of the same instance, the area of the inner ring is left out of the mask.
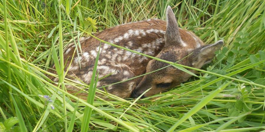
[[[211,64],[195,69],[199,77],[137,101],[64,78],[58,58],[75,38],[127,22],[164,19],[167,5],[179,26],[206,44],[225,41]],[[263,0],[3,1],[0,131],[264,131],[264,6]],[[51,63],[58,85],[45,76]],[[90,87],[90,100],[70,95],[65,85]],[[95,92],[113,101],[94,97]]]

